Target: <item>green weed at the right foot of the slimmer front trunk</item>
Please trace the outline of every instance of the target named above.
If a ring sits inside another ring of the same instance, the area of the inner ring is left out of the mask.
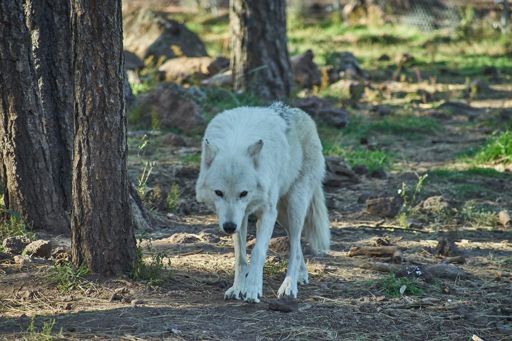
[[[145,250],[149,257],[144,259],[142,243],[146,242]],[[167,258],[167,261],[165,261]],[[137,254],[132,263],[130,277],[135,281],[145,281],[148,285],[161,285],[166,279],[172,278],[172,273],[165,272],[170,266],[170,259],[163,252],[155,252],[152,241],[147,237],[147,232],[143,232],[139,238]]]

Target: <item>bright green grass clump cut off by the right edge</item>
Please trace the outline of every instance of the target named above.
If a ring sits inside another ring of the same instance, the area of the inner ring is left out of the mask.
[[[487,141],[485,146],[477,151],[475,161],[480,163],[503,163],[505,165],[511,163],[512,131],[507,130],[496,133],[492,139]]]

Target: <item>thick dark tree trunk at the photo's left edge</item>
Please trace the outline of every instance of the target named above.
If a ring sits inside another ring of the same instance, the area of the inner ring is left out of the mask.
[[[0,2],[0,177],[34,229],[69,232],[72,93],[69,3]]]

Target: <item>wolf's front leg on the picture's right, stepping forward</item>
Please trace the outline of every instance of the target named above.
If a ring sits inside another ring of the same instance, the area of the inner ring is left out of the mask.
[[[245,278],[245,287],[242,291],[244,300],[248,303],[259,303],[263,295],[263,265],[267,259],[267,249],[278,212],[276,205],[271,206],[267,212],[263,212],[258,218],[259,229],[256,243],[251,251],[251,264]]]

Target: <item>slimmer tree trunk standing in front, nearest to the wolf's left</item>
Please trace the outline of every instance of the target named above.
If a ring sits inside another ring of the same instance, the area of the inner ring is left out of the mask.
[[[127,173],[121,1],[72,0],[73,264],[120,274],[135,258]]]

